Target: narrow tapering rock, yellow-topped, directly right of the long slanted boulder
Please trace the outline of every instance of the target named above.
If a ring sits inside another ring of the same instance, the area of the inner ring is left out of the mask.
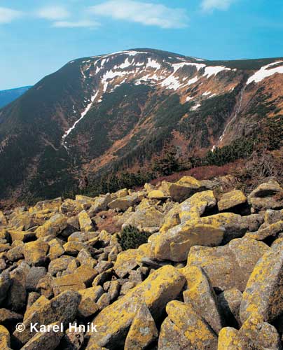
[[[191,304],[198,315],[218,334],[224,325],[223,316],[205,272],[197,266],[188,266],[180,269],[180,272],[187,281],[187,289],[183,293],[184,302]]]

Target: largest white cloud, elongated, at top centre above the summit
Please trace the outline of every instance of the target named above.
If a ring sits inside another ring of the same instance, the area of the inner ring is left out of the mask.
[[[182,28],[188,25],[186,10],[183,8],[169,8],[161,4],[134,0],[105,1],[91,6],[89,12],[115,20],[127,20],[166,29]]]

